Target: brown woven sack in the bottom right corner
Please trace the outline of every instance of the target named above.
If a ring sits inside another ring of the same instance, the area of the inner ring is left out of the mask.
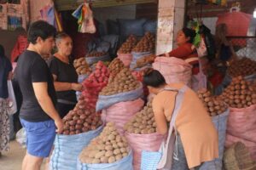
[[[245,144],[237,142],[225,151],[224,167],[225,170],[254,170],[256,162],[251,158]]]

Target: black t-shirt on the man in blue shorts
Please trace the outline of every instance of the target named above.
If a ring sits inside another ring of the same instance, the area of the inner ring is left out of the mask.
[[[47,82],[49,97],[56,104],[53,77],[44,59],[38,53],[26,50],[20,54],[15,74],[23,97],[20,117],[28,122],[49,120],[50,117],[42,110],[32,87],[32,82]]]

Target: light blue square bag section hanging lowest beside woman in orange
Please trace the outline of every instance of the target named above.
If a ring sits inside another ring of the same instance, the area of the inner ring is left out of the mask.
[[[146,151],[142,153],[141,170],[156,170],[162,154],[159,151]]]

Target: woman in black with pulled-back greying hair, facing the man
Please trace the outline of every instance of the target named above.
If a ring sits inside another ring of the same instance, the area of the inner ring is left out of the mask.
[[[54,77],[57,94],[56,109],[61,118],[73,110],[76,105],[76,91],[82,90],[82,84],[78,83],[78,74],[70,59],[73,48],[71,37],[62,32],[55,37],[58,52],[48,60],[49,70]]]

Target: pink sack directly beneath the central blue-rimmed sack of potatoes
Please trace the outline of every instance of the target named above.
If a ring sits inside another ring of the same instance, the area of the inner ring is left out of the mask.
[[[106,114],[106,122],[115,122],[115,126],[119,133],[123,134],[125,123],[128,122],[138,111],[141,111],[143,106],[143,99],[136,99],[112,105],[103,112]],[[102,116],[102,118],[104,118],[104,116]]]

